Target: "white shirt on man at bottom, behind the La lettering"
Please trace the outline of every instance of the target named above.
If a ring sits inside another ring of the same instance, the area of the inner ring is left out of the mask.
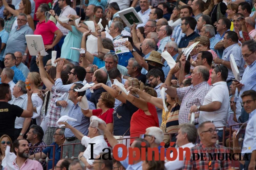
[[[103,135],[99,135],[99,136],[95,136],[93,138],[90,138],[88,136],[83,136],[82,140],[81,140],[81,144],[83,146],[86,147],[86,150],[83,153],[84,158],[87,159],[87,162],[92,165],[94,160],[90,160],[89,158],[91,158],[91,145],[89,143],[95,143],[93,145],[93,158],[96,158],[96,156],[98,156],[101,152],[102,149],[104,148],[108,148],[108,144],[104,139]],[[88,168],[86,168],[88,169]]]

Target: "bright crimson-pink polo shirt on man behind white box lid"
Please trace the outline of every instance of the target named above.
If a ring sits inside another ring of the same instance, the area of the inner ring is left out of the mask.
[[[57,30],[58,28],[54,22],[50,20],[45,22],[44,20],[37,23],[34,35],[42,35],[44,45],[51,45],[54,38],[54,32]]]

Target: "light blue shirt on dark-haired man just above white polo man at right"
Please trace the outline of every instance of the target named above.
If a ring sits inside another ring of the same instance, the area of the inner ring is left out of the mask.
[[[243,72],[244,72],[245,61],[242,57],[241,47],[237,43],[227,47],[223,51],[222,60],[230,62],[230,59],[229,59],[230,54],[233,54],[234,60],[237,64],[237,66],[239,67],[238,70],[239,70],[240,76],[242,77]],[[228,68],[227,81],[232,80],[232,79],[234,79],[234,74],[233,74],[232,70]]]

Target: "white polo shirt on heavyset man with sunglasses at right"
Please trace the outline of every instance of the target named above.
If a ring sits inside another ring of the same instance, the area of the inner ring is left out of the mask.
[[[211,85],[205,96],[203,106],[214,101],[221,102],[221,108],[214,112],[200,111],[199,124],[205,121],[212,121],[215,127],[226,126],[229,107],[229,92],[226,82],[221,81]],[[219,130],[221,129],[219,128]]]

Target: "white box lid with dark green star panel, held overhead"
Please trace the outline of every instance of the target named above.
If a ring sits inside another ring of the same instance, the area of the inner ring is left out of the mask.
[[[133,7],[121,10],[118,14],[128,27],[132,27],[134,22],[136,25],[143,23],[141,17]]]

